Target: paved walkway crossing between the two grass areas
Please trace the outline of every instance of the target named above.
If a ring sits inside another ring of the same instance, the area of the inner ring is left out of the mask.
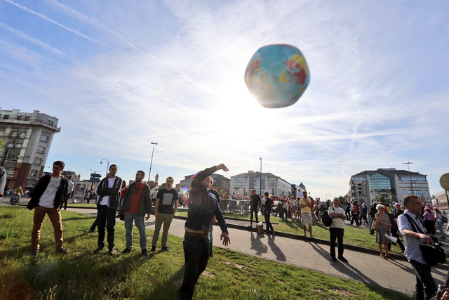
[[[68,209],[81,214],[96,216],[95,209]],[[118,220],[118,219],[117,219]],[[154,230],[154,216],[145,223],[147,229]],[[184,235],[185,220],[173,219],[170,235],[182,237]],[[259,256],[292,266],[309,268],[321,273],[335,275],[349,280],[377,285],[393,289],[404,294],[413,294],[415,290],[415,275],[406,261],[390,261],[381,259],[377,255],[365,254],[346,249],[344,257],[349,263],[330,261],[329,247],[316,242],[295,240],[288,237],[258,235],[255,232],[229,228],[231,244],[224,247],[220,244],[220,227],[214,226],[215,247],[227,248],[236,252]],[[182,249],[177,249],[182,251]],[[447,275],[446,270],[433,268],[432,275],[436,284],[443,284]]]

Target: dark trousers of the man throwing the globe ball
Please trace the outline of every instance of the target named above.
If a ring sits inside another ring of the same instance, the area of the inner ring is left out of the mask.
[[[178,291],[179,299],[192,299],[199,275],[208,265],[209,240],[203,237],[184,237],[185,270],[182,285]]]

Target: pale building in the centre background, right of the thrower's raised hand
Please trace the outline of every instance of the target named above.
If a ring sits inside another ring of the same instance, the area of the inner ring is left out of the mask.
[[[229,186],[229,195],[250,195],[251,190],[256,190],[257,194],[262,191],[270,195],[279,197],[281,195],[290,195],[292,193],[292,185],[283,178],[272,173],[262,172],[262,181],[260,180],[260,172],[248,171],[235,176],[231,176]]]

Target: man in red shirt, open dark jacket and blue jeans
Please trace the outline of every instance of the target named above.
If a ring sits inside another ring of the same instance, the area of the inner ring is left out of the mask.
[[[128,254],[133,249],[133,222],[139,229],[139,244],[143,256],[148,256],[147,235],[145,234],[145,221],[149,220],[152,211],[152,202],[149,199],[149,186],[143,182],[145,172],[137,171],[135,182],[132,183],[123,197],[120,214],[123,214],[126,229],[126,248],[121,254]],[[147,215],[145,217],[145,214]]]

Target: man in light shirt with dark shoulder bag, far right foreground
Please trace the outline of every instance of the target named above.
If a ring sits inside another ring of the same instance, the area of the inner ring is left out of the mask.
[[[416,195],[406,195],[403,199],[406,212],[398,216],[398,228],[404,238],[406,257],[416,275],[415,299],[433,299],[436,284],[431,275],[431,266],[422,256],[420,244],[434,244],[420,222],[422,202]]]

